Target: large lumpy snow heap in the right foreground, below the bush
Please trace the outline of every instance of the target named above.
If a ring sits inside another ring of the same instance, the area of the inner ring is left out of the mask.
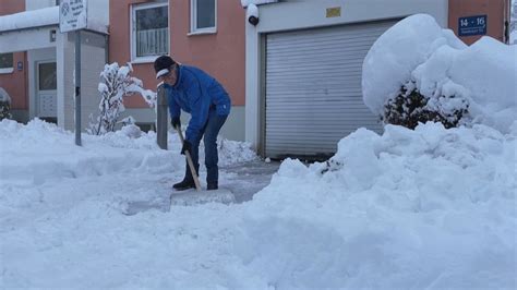
[[[514,288],[516,126],[361,129],[328,165],[286,160],[248,205],[245,273],[279,289]]]

